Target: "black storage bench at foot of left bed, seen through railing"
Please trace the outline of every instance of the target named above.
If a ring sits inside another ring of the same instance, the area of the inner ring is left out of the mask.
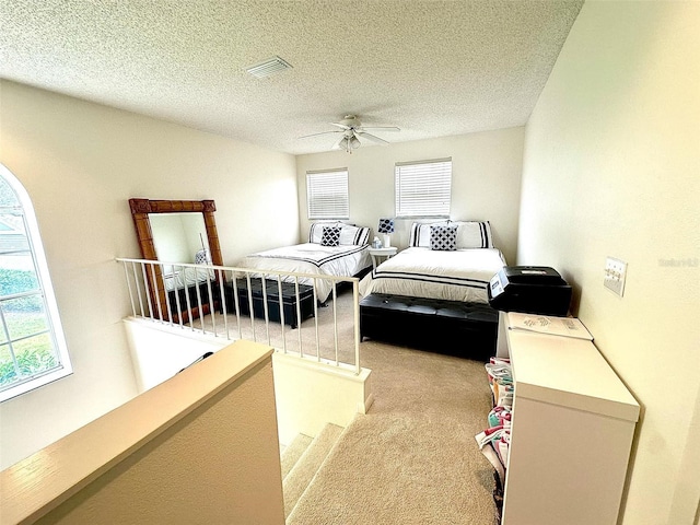
[[[248,283],[246,279],[236,280],[236,289],[238,292],[238,307],[242,315],[250,313],[250,303],[248,301]],[[233,302],[233,283],[226,283],[226,307],[233,313],[235,303]],[[253,313],[259,319],[265,318],[265,302],[262,299],[262,280],[250,279],[250,292],[253,294]],[[265,281],[265,292],[267,295],[268,319],[280,323],[280,294],[276,280]],[[301,311],[301,320],[314,315],[314,289],[307,284],[299,285],[299,307]],[[296,316],[296,287],[293,282],[282,282],[282,308],[284,312],[284,324],[292,328],[299,326]]]

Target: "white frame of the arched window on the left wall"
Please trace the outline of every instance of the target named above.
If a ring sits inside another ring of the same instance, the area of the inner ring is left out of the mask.
[[[2,177],[10,189],[12,189],[22,208],[22,218],[25,225],[25,233],[30,246],[31,256],[34,262],[34,270],[38,281],[38,295],[43,300],[44,316],[46,318],[47,330],[49,334],[54,349],[56,350],[56,359],[58,361],[54,369],[38,373],[32,377],[21,381],[12,386],[8,386],[0,390],[0,402],[7,401],[22,394],[26,394],[35,388],[52,383],[57,380],[66,377],[73,373],[68,346],[66,345],[66,336],[60,322],[54,285],[46,262],[46,254],[39,234],[38,222],[32,199],[28,192],[20,183],[20,180],[3,165],[0,164],[0,177]],[[5,301],[7,296],[2,296]]]

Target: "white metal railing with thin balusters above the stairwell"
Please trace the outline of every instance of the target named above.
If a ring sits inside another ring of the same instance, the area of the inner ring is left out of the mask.
[[[135,317],[228,340],[267,342],[283,353],[349,369],[355,374],[361,371],[357,278],[116,260],[124,267]],[[323,304],[317,291],[320,281],[330,284],[330,294],[322,298]],[[350,287],[352,303],[348,304],[342,300]]]

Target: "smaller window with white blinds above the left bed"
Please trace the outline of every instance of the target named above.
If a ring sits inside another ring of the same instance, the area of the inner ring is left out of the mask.
[[[348,170],[306,172],[308,219],[349,219]]]

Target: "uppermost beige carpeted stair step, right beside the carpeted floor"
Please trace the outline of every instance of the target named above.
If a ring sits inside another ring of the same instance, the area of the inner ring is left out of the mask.
[[[342,427],[328,423],[301,455],[294,467],[283,478],[284,515],[289,516],[312,479],[323,465],[342,433]]]

